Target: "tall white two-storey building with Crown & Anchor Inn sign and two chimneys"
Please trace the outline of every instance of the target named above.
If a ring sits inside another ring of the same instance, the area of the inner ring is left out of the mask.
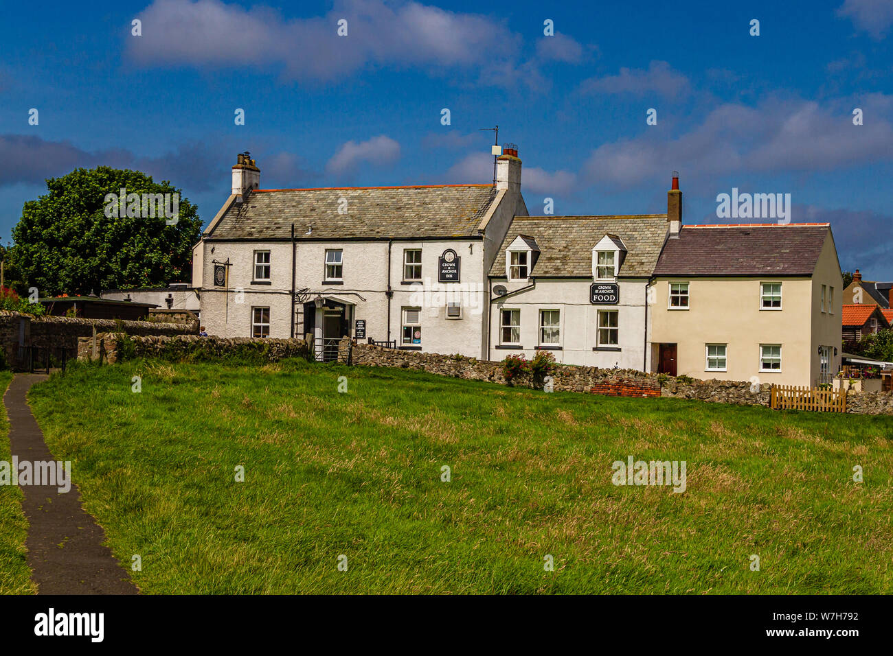
[[[261,189],[248,154],[193,252],[209,335],[310,336],[334,359],[343,336],[480,358],[487,273],[525,215],[521,160],[496,184]]]

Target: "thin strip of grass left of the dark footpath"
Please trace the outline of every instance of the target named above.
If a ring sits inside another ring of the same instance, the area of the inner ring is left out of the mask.
[[[13,374],[0,371],[0,394],[6,391]],[[9,444],[9,421],[0,404],[0,461],[12,457]],[[21,511],[21,488],[0,486],[0,594],[34,594],[31,569],[25,556],[28,520]]]

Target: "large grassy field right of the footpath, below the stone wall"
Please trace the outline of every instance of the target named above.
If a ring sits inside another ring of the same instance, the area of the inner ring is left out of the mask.
[[[304,361],[76,367],[29,398],[148,594],[893,592],[889,417]],[[630,455],[686,461],[686,492],[614,486]]]

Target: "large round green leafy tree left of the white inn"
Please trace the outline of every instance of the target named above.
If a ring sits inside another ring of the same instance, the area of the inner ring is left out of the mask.
[[[13,228],[13,270],[24,286],[38,287],[41,296],[84,295],[189,278],[201,220],[186,198],[179,195],[175,225],[166,224],[163,211],[142,216],[142,203],[138,216],[107,216],[106,195],[121,188],[128,195],[179,194],[167,180],[100,166],[47,179],[46,187],[46,195],[25,203]]]

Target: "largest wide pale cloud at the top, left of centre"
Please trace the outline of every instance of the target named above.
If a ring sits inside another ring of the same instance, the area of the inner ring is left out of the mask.
[[[288,78],[337,81],[370,66],[481,68],[511,61],[520,37],[500,21],[415,2],[338,0],[325,16],[284,21],[263,6],[155,0],[131,38],[137,62],[280,68]],[[338,21],[347,21],[339,37]]]

